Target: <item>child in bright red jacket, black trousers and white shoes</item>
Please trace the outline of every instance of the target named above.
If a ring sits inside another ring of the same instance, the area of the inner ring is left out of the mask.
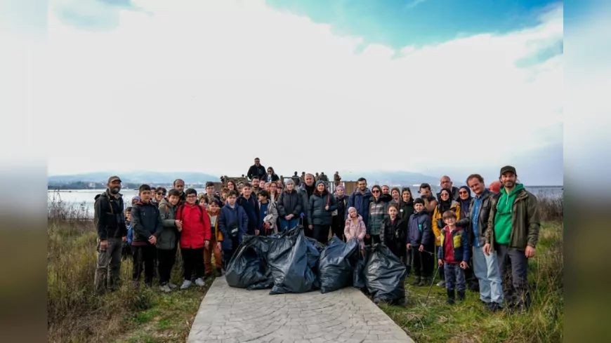
[[[195,284],[204,286],[204,248],[210,245],[210,218],[204,206],[196,204],[197,191],[185,191],[187,202],[178,208],[176,220],[180,220],[180,254],[183,255],[183,276],[185,281],[181,290],[190,287],[193,270],[195,269]]]

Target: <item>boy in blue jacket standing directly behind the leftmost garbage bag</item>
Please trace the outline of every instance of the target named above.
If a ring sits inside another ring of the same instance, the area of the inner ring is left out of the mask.
[[[223,234],[223,264],[225,267],[242,243],[244,234],[248,231],[249,219],[242,206],[235,203],[237,191],[232,189],[227,195],[227,203],[218,215],[218,229]]]

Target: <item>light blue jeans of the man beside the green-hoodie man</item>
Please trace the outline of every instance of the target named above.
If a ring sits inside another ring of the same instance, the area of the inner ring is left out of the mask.
[[[503,287],[497,253],[486,256],[482,246],[473,246],[473,273],[480,283],[480,300],[501,304]]]

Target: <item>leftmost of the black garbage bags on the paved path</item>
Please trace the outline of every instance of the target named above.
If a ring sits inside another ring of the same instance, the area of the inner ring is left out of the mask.
[[[236,288],[263,289],[273,284],[267,264],[270,243],[278,238],[245,235],[227,264],[225,279]]]

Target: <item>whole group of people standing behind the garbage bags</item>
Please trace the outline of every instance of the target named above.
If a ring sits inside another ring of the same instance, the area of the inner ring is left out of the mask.
[[[409,187],[369,188],[364,178],[352,194],[338,180],[331,194],[327,180],[315,175],[304,173],[296,185],[294,177],[282,184],[272,168],[267,172],[255,159],[249,182],[224,180],[221,191],[207,182],[202,194],[185,190],[180,179],[167,192],[143,184],[125,210],[121,180],[110,177],[95,205],[96,290],[117,288],[124,241],[131,248],[133,280],[138,283],[144,273],[145,284],[151,285],[157,269],[161,290],[171,292],[178,287],[170,280],[178,246],[180,289],[186,289],[192,282],[204,285],[213,274],[221,276],[244,235],[270,235],[302,224],[306,236],[322,244],[337,236],[358,239],[362,249],[388,246],[409,274],[413,269],[413,285],[428,285],[440,274],[438,285],[447,289],[448,304],[456,295],[463,300],[472,281],[469,288],[479,290],[490,311],[521,313],[530,306],[527,259],[535,255],[539,234],[537,198],[518,183],[512,166],[501,168],[499,180],[488,188],[478,174],[459,188],[443,176],[436,196],[423,183],[418,197]]]

